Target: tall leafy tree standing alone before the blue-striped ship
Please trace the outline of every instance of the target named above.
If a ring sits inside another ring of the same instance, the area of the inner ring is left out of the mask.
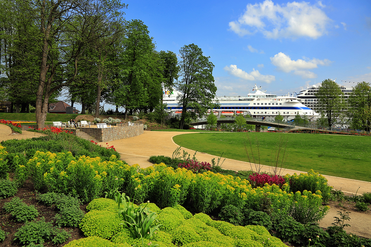
[[[180,50],[180,77],[176,88],[181,92],[177,97],[182,107],[179,128],[183,129],[186,117],[195,119],[202,116],[216,104],[212,102],[216,94],[213,69],[210,57],[203,56],[201,48],[195,44],[183,46]]]

